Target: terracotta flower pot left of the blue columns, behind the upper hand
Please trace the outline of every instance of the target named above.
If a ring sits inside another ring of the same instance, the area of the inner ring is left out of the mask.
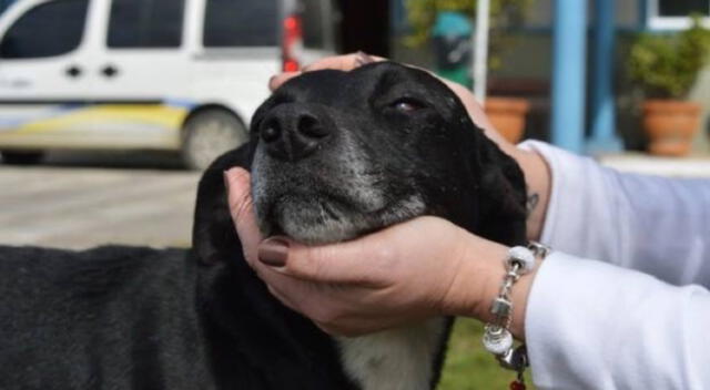
[[[530,103],[525,99],[488,98],[486,115],[503,136],[518,143],[525,131],[525,115],[530,111]]]

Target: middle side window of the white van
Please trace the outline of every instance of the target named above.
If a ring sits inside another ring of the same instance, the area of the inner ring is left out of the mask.
[[[178,48],[185,0],[113,0],[109,48]]]

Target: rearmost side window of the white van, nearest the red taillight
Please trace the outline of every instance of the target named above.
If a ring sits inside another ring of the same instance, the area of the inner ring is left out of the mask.
[[[278,44],[276,0],[207,0],[205,48],[268,47]]]

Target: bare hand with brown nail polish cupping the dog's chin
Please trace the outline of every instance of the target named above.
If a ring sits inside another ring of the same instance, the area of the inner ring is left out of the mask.
[[[225,174],[246,261],[284,305],[333,335],[357,336],[437,315],[489,319],[507,248],[447,220],[419,217],[359,239],[307,247],[262,240],[248,173]],[[523,336],[527,290],[514,289],[514,335]],[[519,307],[518,307],[519,306]]]

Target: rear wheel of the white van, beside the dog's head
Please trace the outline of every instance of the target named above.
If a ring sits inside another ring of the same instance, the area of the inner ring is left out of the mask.
[[[205,110],[185,123],[182,158],[189,168],[203,171],[216,157],[236,148],[247,138],[246,129],[239,117],[222,110]]]

